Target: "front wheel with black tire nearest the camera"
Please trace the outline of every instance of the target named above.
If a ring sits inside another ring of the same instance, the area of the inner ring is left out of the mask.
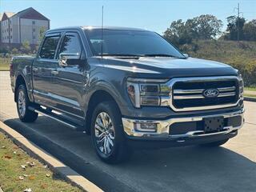
[[[126,146],[122,118],[115,102],[96,106],[90,128],[94,149],[103,162],[116,164],[130,157],[131,150]]]

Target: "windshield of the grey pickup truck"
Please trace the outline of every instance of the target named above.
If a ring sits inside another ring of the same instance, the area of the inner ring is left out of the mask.
[[[185,58],[174,46],[154,32],[94,29],[85,30],[85,33],[95,55],[103,53],[110,56]]]

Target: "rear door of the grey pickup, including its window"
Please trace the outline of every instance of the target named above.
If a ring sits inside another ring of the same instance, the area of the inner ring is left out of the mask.
[[[58,63],[56,54],[60,38],[59,33],[46,35],[32,66],[34,100],[44,106],[54,106],[51,98],[55,89],[53,81]]]

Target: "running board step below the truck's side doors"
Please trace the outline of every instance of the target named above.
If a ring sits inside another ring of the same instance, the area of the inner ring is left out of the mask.
[[[70,126],[74,130],[82,130],[82,126],[78,125],[75,122],[71,122],[69,119],[64,118],[61,114],[55,114],[48,110],[44,110],[44,109],[42,109],[42,107],[35,108],[33,106],[29,106],[28,109],[32,110],[38,114],[42,114],[48,118],[52,118],[52,119],[56,120],[57,122],[61,122],[62,124],[66,125],[66,126]]]

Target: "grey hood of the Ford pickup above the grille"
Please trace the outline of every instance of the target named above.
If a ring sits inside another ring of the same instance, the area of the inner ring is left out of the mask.
[[[170,78],[192,76],[237,75],[237,71],[222,62],[198,58],[105,58],[104,66],[127,70],[136,75]]]

